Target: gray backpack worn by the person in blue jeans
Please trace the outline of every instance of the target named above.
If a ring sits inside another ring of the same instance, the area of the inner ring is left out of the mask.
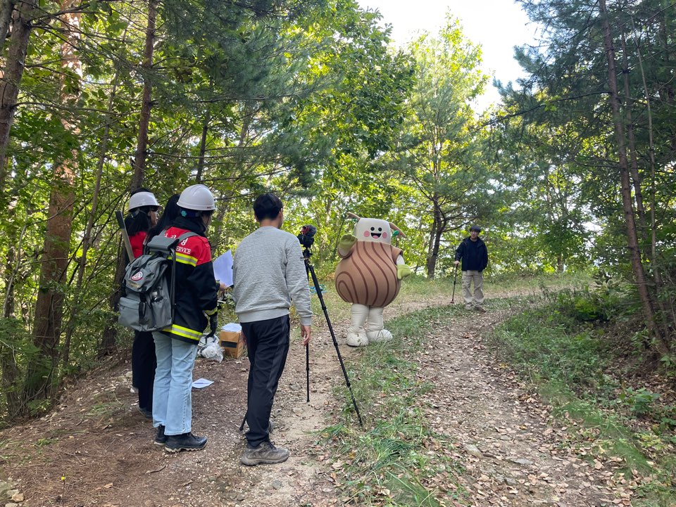
[[[160,233],[146,245],[144,255],[127,265],[120,297],[118,323],[137,331],[171,326],[174,314],[176,245],[194,232],[178,238]]]

